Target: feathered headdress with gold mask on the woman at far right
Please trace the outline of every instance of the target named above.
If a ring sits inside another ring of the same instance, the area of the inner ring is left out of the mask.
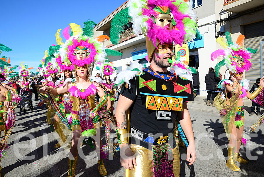
[[[231,34],[226,32],[226,42],[224,37],[218,37],[216,42],[225,49],[219,49],[211,54],[211,60],[214,61],[219,56],[223,56],[223,61],[216,65],[216,73],[219,73],[221,66],[226,66],[232,73],[243,73],[248,71],[252,65],[251,54],[255,54],[257,49],[243,48],[244,35],[239,35],[236,43],[232,41]]]

